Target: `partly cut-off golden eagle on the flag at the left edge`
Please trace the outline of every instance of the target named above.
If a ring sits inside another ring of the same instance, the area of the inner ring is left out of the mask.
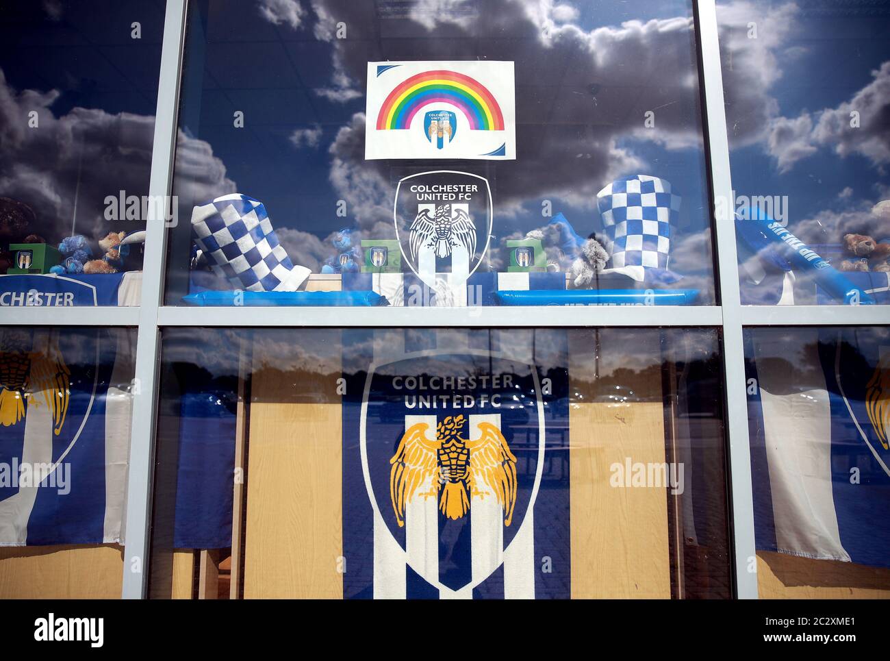
[[[25,333],[4,333],[0,341],[0,425],[12,427],[29,405],[45,404],[53,412],[53,433],[59,436],[69,405],[71,372],[59,350],[58,336],[31,347]]]

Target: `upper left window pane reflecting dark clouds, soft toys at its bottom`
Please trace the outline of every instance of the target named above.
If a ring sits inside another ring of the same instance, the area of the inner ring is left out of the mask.
[[[0,306],[136,306],[164,3],[0,7]]]

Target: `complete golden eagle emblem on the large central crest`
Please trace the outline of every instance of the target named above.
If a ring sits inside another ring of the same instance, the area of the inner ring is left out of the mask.
[[[504,510],[504,525],[513,519],[516,504],[516,457],[500,430],[489,422],[477,426],[481,436],[463,437],[463,415],[448,416],[427,437],[429,425],[418,422],[401,437],[390,464],[390,497],[399,526],[405,525],[405,509],[417,489],[433,477],[424,497],[437,497],[439,510],[451,519],[470,510],[470,498],[492,495]]]

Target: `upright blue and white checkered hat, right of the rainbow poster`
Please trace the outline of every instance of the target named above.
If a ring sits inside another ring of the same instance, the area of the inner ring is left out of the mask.
[[[676,224],[680,196],[657,176],[634,175],[596,193],[603,216],[608,268],[642,266],[667,269],[670,226]]]

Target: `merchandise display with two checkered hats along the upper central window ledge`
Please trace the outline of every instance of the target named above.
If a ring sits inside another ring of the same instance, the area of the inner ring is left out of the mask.
[[[331,236],[332,254],[311,282],[310,270],[294,265],[279,243],[263,203],[231,193],[193,209],[192,278],[190,293],[183,301],[188,305],[238,306],[694,303],[697,290],[665,289],[682,279],[667,268],[671,225],[676,223],[680,204],[671,184],[651,175],[627,176],[603,188],[597,203],[603,228],[599,239],[593,232],[585,238],[566,216],[557,213],[524,238],[506,241],[509,266],[496,272],[473,269],[463,285],[454,281],[453,273],[437,274],[433,285],[422,274],[409,273],[414,270],[411,265],[398,259],[390,264],[387,253],[392,249],[403,252],[424,241],[414,233],[407,233],[405,239],[413,242],[401,245],[399,240],[359,237],[345,227]],[[441,207],[447,211],[448,206]],[[424,220],[425,209],[418,208],[406,209],[412,231]],[[428,220],[434,228],[434,219]],[[452,223],[459,221],[452,218]],[[474,227],[478,218],[472,221]],[[605,246],[600,242],[603,239]],[[431,245],[438,245],[436,241],[447,243],[438,234]],[[477,258],[479,252],[475,246]],[[441,288],[440,282],[445,282]],[[459,291],[463,288],[465,297]],[[657,294],[652,294],[653,289]]]

